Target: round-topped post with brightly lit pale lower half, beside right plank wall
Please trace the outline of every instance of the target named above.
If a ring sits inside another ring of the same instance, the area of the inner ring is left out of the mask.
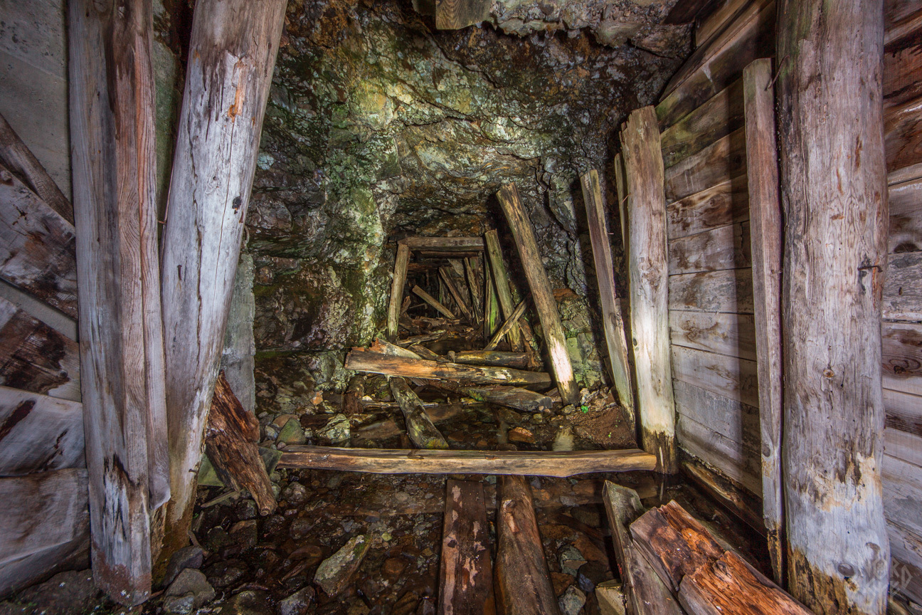
[[[653,107],[631,113],[621,130],[628,183],[628,278],[631,342],[637,374],[641,444],[656,469],[676,471],[676,408],[669,355],[666,194],[659,128]]]

